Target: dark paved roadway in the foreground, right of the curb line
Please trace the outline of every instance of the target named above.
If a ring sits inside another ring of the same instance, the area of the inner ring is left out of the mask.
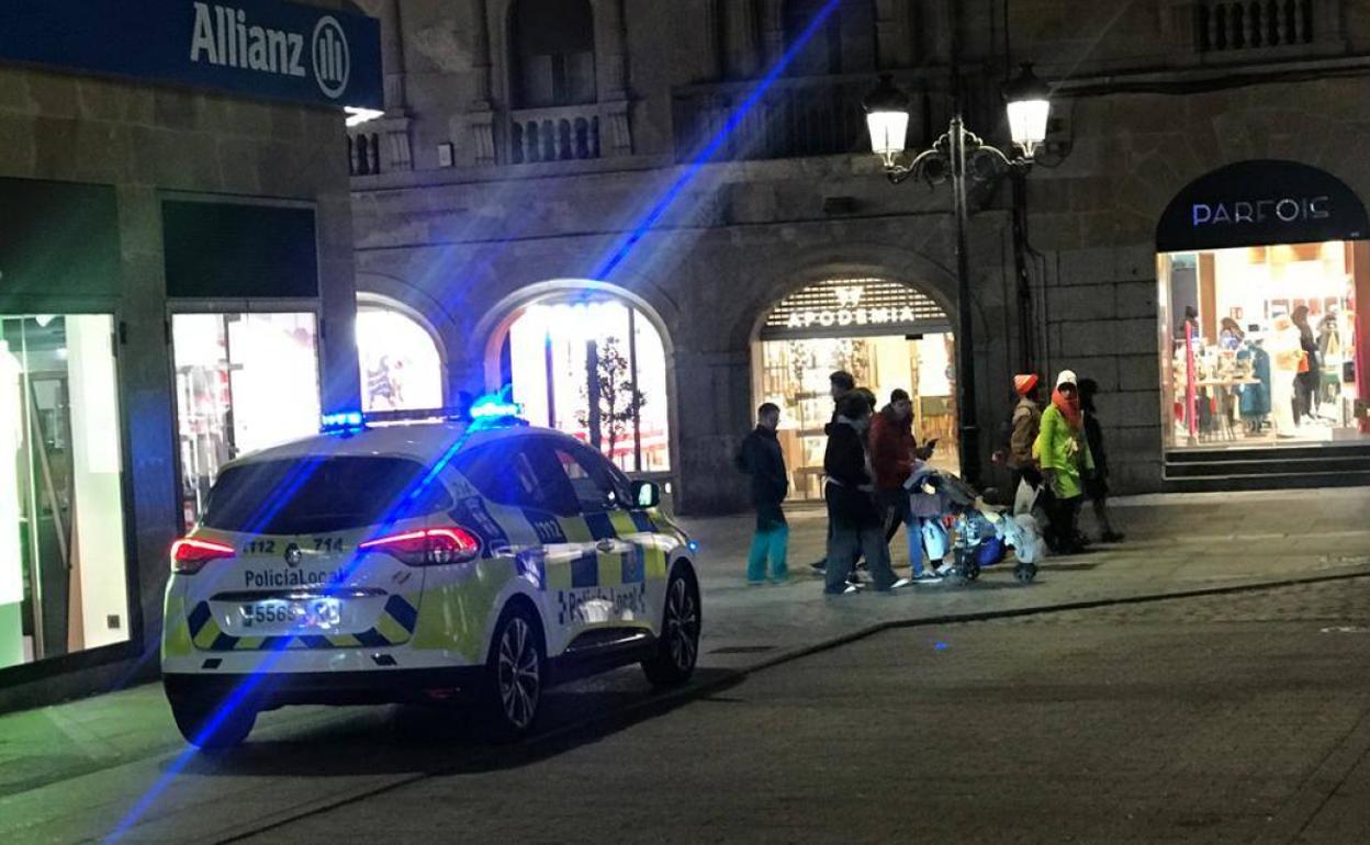
[[[1370,581],[891,630],[560,753],[249,837],[1330,842],[1370,834]]]

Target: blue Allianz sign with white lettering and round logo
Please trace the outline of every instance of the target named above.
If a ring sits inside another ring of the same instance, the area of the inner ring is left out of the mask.
[[[4,0],[0,60],[381,108],[379,23],[275,0]]]

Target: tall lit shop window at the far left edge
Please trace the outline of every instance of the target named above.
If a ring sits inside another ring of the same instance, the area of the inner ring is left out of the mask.
[[[112,331],[0,316],[0,668],[129,640]]]

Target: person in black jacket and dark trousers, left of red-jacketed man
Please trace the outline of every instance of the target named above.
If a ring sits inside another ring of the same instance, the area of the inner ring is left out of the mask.
[[[895,578],[889,567],[884,523],[875,505],[875,479],[864,445],[869,425],[870,404],[866,397],[859,393],[844,397],[823,452],[823,472],[827,475],[823,499],[827,501],[827,525],[832,529],[827,540],[827,583],[823,592],[833,596],[858,590],[856,585],[847,583],[858,553],[866,556],[877,590],[908,583],[907,578]]]

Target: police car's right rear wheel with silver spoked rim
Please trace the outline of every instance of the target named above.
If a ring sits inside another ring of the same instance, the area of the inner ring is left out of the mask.
[[[543,703],[547,656],[533,612],[514,605],[495,626],[481,709],[489,738],[508,742],[533,730]]]

